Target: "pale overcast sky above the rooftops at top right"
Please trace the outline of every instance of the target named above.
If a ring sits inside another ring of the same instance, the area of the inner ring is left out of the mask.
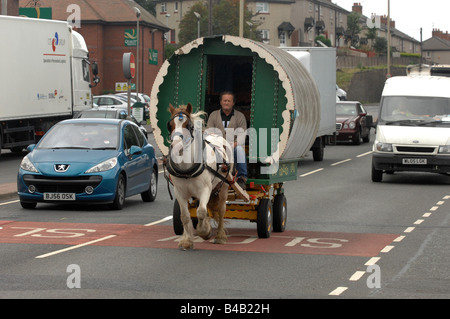
[[[332,0],[347,11],[352,11],[355,2],[361,3],[363,15],[369,17],[372,13],[386,15],[388,0]],[[407,35],[420,40],[431,38],[433,28],[450,32],[450,0],[390,0],[391,19],[395,28]]]

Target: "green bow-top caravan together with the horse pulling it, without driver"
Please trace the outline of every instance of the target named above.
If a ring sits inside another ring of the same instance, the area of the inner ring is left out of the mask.
[[[247,120],[244,191],[233,183],[233,164],[220,164],[233,162],[227,154],[230,145],[205,136],[199,120],[220,108],[223,91],[234,92],[235,108]],[[209,238],[207,216],[219,221],[219,243],[226,240],[223,218],[256,222],[260,238],[285,230],[283,184],[297,178],[298,161],[311,149],[320,122],[318,89],[296,58],[235,36],[194,40],[162,65],[152,89],[150,117],[156,143],[172,169],[174,231],[183,234],[182,248],[193,245],[192,221],[197,234]],[[187,145],[192,145],[191,156],[180,156],[187,153]],[[179,174],[173,172],[177,168]]]

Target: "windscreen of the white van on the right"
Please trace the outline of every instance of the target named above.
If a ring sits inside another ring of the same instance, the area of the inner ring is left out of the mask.
[[[384,96],[381,100],[382,122],[450,121],[450,99],[443,97]]]

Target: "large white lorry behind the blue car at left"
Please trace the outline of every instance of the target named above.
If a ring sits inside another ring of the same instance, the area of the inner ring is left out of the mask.
[[[92,108],[87,46],[67,22],[0,16],[0,43],[0,154]]]

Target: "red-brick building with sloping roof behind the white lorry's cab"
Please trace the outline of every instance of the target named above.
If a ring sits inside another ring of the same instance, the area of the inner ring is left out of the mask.
[[[30,3],[30,0],[20,0],[20,7]],[[94,95],[114,92],[116,83],[126,82],[122,71],[123,53],[132,52],[137,58],[137,41],[126,41],[125,33],[135,34],[137,18],[134,7],[137,7],[141,12],[138,90],[150,95],[153,81],[165,59],[164,33],[168,31],[153,15],[131,0],[40,0],[37,3],[40,8],[51,7],[54,20],[68,20],[76,13],[68,9],[69,5],[79,6],[81,24],[74,30],[84,37],[89,59],[96,61],[99,67],[101,80],[93,88]],[[132,83],[135,81],[136,78]]]

